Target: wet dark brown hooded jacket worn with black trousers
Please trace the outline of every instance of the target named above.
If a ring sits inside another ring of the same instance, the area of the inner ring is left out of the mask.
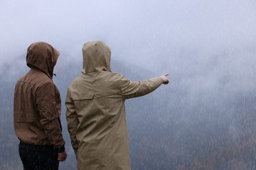
[[[22,143],[53,145],[64,151],[60,124],[60,92],[53,83],[53,69],[59,52],[46,42],[28,47],[30,71],[14,89],[14,131]]]

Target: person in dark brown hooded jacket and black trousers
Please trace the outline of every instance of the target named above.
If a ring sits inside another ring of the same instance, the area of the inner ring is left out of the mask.
[[[58,169],[66,160],[60,124],[60,93],[53,83],[59,52],[46,42],[28,47],[30,71],[14,89],[14,131],[24,169]]]

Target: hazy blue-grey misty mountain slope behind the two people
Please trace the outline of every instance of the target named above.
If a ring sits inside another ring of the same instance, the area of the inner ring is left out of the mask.
[[[22,169],[18,139],[12,126],[14,84],[28,68],[1,75],[0,169]],[[151,78],[154,72],[112,60],[112,71],[131,80]],[[60,169],[76,169],[66,128],[64,101],[72,80],[81,74],[81,63],[56,65],[53,78],[62,97],[62,127],[68,158]],[[11,76],[11,78],[10,78]],[[126,101],[132,169],[255,169],[255,96],[223,89],[194,92],[184,85],[191,75],[171,75],[170,84]],[[200,88],[198,88],[200,89]]]

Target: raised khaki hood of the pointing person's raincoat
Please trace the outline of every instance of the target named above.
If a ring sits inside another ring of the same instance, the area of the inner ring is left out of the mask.
[[[102,41],[83,44],[83,74],[95,71],[109,71],[111,50]]]

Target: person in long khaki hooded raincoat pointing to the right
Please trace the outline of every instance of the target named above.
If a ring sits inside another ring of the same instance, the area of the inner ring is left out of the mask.
[[[78,169],[131,169],[125,99],[168,84],[168,74],[131,81],[110,69],[110,48],[83,45],[83,70],[68,88],[66,119]]]

